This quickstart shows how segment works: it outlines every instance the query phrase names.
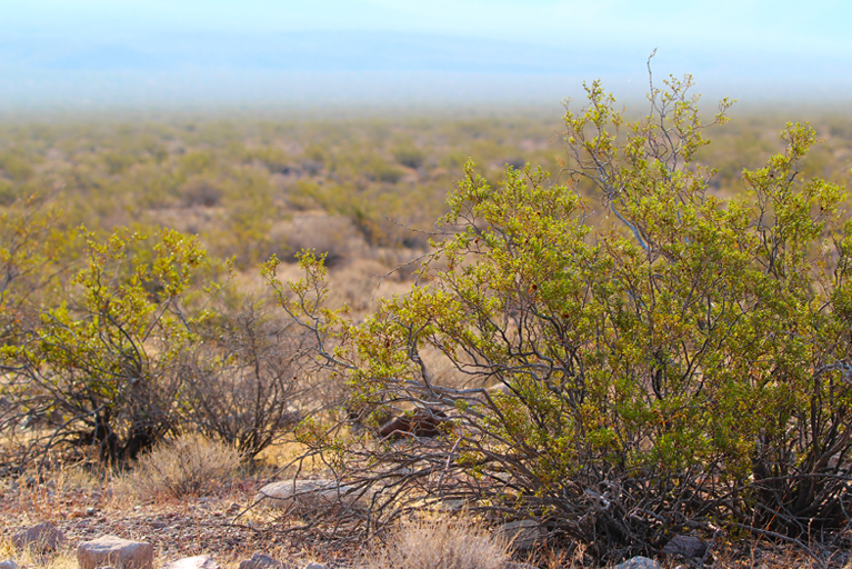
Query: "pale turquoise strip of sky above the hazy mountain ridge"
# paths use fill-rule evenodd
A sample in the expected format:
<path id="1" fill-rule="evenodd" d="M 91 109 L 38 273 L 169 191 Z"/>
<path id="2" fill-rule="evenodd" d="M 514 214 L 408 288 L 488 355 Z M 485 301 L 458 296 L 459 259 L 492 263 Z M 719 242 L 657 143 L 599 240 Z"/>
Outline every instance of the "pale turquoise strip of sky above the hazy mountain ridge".
<path id="1" fill-rule="evenodd" d="M 823 0 L 7 0 L 6 33 L 405 31 L 575 41 L 852 51 L 852 2 Z"/>

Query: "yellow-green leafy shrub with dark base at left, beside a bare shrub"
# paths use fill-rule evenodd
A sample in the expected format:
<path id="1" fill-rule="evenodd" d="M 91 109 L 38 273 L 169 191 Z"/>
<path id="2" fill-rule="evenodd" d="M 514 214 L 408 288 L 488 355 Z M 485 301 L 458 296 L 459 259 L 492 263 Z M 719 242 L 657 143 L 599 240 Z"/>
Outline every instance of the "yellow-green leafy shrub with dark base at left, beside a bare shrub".
<path id="1" fill-rule="evenodd" d="M 29 439 L 22 460 L 61 446 L 124 461 L 179 425 L 177 365 L 208 317 L 190 301 L 206 252 L 197 239 L 169 230 L 141 259 L 146 239 L 138 233 L 120 231 L 107 242 L 83 237 L 83 267 L 66 300 L 41 308 L 32 328 L 2 351 L 3 395 L 17 416 L 58 418 Z"/>

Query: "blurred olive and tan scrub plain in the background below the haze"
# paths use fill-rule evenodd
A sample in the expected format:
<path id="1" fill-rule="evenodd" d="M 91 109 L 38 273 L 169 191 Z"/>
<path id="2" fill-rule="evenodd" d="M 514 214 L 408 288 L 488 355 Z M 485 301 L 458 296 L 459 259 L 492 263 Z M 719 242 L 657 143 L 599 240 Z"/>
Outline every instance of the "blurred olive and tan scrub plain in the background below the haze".
<path id="1" fill-rule="evenodd" d="M 743 168 L 781 150 L 786 120 L 809 120 L 821 143 L 803 172 L 848 183 L 852 117 L 755 109 L 709 136 L 700 161 L 719 169 L 713 191 L 743 190 Z M 507 163 L 541 166 L 557 181 L 563 156 L 558 117 L 533 111 L 337 118 L 64 117 L 0 124 L 0 208 L 47 201 L 54 230 L 84 224 L 168 227 L 198 234 L 239 271 L 301 248 L 328 252 L 334 269 L 363 258 L 388 270 L 428 247 L 423 231 L 468 158 L 499 182 Z M 581 188 L 582 191 L 582 188 Z M 417 230 L 417 231 L 414 231 Z"/>

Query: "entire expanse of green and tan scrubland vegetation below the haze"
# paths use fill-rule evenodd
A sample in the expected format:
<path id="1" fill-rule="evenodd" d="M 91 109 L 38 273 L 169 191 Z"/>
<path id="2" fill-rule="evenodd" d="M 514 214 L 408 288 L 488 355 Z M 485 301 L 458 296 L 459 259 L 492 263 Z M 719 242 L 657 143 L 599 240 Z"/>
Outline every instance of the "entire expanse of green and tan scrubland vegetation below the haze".
<path id="1" fill-rule="evenodd" d="M 540 565 L 679 533 L 844 563 L 852 117 L 729 122 L 689 87 L 622 116 L 594 83 L 561 121 L 0 127 L 0 476 L 329 478 L 359 499 L 252 528 L 384 538 L 375 567 L 424 509 L 533 520 Z"/>

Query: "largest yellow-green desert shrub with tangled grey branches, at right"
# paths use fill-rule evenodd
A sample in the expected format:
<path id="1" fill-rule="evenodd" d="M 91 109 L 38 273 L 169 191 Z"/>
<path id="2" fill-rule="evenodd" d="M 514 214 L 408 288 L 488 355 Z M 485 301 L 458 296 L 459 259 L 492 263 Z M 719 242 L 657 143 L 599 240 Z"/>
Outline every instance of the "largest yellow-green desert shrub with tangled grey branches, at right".
<path id="1" fill-rule="evenodd" d="M 788 124 L 786 150 L 744 171 L 746 197 L 711 196 L 690 86 L 654 90 L 633 123 L 590 86 L 564 117 L 569 186 L 510 167 L 495 187 L 468 164 L 423 284 L 361 323 L 315 308 L 315 259 L 289 292 L 267 267 L 281 305 L 339 343 L 357 405 L 440 425 L 404 452 L 345 429 L 303 433 L 348 483 L 384 490 L 373 525 L 407 500 L 452 498 L 538 518 L 604 560 L 690 528 L 849 527 L 845 193 L 799 176 L 814 132 Z M 427 350 L 457 387 L 435 380 Z"/>

